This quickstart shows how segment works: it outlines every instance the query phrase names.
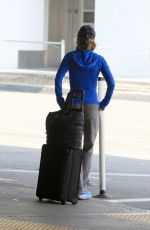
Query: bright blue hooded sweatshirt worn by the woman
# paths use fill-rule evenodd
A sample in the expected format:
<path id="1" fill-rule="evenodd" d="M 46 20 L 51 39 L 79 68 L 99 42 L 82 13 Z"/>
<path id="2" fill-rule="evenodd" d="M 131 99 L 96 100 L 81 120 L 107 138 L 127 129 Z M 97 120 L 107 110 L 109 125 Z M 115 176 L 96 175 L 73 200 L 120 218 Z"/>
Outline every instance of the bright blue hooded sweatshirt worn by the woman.
<path id="1" fill-rule="evenodd" d="M 82 89 L 84 91 L 83 104 L 97 104 L 99 108 L 105 109 L 115 87 L 113 75 L 105 59 L 91 50 L 76 50 L 65 55 L 55 78 L 55 93 L 60 108 L 64 106 L 62 80 L 67 71 L 69 71 L 70 90 Z M 97 98 L 97 82 L 100 72 L 107 82 L 106 94 L 101 102 Z"/>

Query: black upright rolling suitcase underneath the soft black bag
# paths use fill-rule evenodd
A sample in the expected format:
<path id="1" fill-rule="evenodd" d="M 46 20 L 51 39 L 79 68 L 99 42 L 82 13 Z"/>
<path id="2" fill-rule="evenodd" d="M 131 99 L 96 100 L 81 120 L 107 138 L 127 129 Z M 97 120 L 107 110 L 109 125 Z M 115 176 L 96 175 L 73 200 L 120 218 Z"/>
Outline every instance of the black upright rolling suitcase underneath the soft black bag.
<path id="1" fill-rule="evenodd" d="M 37 197 L 76 204 L 81 161 L 81 149 L 43 145 Z"/>

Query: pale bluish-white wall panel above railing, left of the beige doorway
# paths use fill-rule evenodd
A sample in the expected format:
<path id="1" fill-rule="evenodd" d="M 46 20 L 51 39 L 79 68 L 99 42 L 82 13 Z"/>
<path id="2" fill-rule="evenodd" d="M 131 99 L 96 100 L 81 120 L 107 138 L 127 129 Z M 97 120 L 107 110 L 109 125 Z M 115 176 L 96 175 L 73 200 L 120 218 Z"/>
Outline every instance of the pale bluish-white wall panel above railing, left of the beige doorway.
<path id="1" fill-rule="evenodd" d="M 19 0 L 18 5 L 18 39 L 43 41 L 44 0 Z"/>

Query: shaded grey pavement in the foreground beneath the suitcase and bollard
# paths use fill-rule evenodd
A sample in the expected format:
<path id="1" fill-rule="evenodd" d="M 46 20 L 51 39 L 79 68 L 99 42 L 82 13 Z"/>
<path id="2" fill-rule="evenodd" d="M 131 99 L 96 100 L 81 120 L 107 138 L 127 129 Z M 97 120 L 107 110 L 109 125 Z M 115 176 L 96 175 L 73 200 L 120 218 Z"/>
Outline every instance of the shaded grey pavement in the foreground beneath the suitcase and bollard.
<path id="1" fill-rule="evenodd" d="M 149 161 L 107 156 L 107 193 L 112 197 L 63 206 L 49 200 L 39 202 L 35 196 L 39 160 L 40 149 L 0 146 L 0 229 L 1 218 L 11 225 L 11 220 L 20 221 L 15 228 L 6 225 L 5 230 L 56 226 L 76 230 L 149 229 Z M 99 192 L 97 161 L 94 155 L 90 176 L 93 186 L 89 187 L 93 195 Z"/>

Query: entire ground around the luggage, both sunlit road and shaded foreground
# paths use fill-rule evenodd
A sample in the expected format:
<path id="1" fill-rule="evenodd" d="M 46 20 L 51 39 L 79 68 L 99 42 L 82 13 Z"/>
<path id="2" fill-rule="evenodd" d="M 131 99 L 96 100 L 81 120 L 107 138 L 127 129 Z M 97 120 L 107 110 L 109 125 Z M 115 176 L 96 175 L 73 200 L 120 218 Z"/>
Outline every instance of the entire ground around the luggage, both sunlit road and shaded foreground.
<path id="1" fill-rule="evenodd" d="M 22 86 L 25 93 L 10 92 L 11 85 L 12 82 L 7 86 L 3 82 L 6 88 L 0 91 L 0 217 L 4 218 L 0 218 L 0 229 L 8 229 L 9 220 L 21 221 L 15 227 L 10 221 L 12 230 L 53 226 L 77 230 L 149 229 L 149 95 L 143 93 L 145 100 L 138 101 L 133 100 L 136 95 L 120 100 L 118 94 L 107 111 L 106 182 L 112 198 L 92 198 L 75 206 L 62 206 L 46 200 L 40 203 L 35 196 L 40 147 L 45 141 L 45 116 L 49 110 L 58 109 L 53 86 L 48 88 L 50 94 L 37 94 L 27 93 L 26 84 Z M 125 94 L 121 94 L 125 99 Z M 94 153 L 90 178 L 94 186 L 90 190 L 96 195 L 98 142 Z"/>

